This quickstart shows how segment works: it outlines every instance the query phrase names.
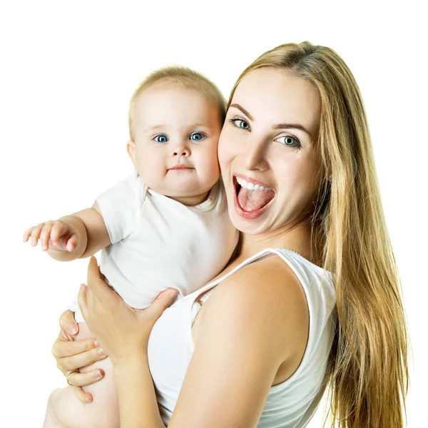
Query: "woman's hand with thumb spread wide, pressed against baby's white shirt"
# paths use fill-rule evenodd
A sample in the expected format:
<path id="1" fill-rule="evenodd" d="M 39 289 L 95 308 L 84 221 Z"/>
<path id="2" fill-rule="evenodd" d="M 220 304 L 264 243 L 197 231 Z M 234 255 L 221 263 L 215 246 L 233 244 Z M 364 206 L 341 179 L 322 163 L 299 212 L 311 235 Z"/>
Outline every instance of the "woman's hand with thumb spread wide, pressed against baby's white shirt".
<path id="1" fill-rule="evenodd" d="M 147 352 L 153 325 L 177 294 L 178 290 L 168 288 L 146 309 L 133 309 L 103 281 L 96 258 L 91 257 L 88 287 L 81 285 L 78 305 L 89 329 L 116 364 Z"/>

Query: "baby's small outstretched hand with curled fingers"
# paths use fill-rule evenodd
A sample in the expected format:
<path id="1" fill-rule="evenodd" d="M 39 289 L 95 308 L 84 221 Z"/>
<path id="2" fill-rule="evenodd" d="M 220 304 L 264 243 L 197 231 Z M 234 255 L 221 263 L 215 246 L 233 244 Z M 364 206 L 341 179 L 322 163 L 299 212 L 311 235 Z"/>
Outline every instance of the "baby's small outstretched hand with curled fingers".
<path id="1" fill-rule="evenodd" d="M 71 225 L 61 220 L 49 220 L 45 223 L 29 228 L 24 233 L 24 243 L 31 236 L 31 245 L 36 246 L 41 242 L 41 248 L 44 251 L 68 251 L 72 252 L 78 244 L 78 237 Z"/>

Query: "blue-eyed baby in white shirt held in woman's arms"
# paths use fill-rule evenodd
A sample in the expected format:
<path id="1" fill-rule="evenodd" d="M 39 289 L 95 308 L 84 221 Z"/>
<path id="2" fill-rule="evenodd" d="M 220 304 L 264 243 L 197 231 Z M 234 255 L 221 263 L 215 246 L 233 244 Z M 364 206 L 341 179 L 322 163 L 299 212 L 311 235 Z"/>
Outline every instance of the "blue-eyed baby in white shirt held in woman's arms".
<path id="1" fill-rule="evenodd" d="M 127 149 L 135 172 L 91 208 L 29 228 L 24 242 L 40 239 L 43 250 L 62 261 L 102 250 L 106 281 L 138 309 L 168 287 L 179 290 L 178 299 L 198 290 L 223 270 L 238 243 L 217 158 L 224 118 L 225 99 L 200 73 L 184 67 L 153 72 L 129 108 Z M 77 339 L 93 337 L 76 302 L 70 309 L 79 322 Z M 71 386 L 56 389 L 44 428 L 119 427 L 111 360 L 81 372 L 95 367 L 105 374 L 84 387 L 93 402 L 79 401 Z"/>

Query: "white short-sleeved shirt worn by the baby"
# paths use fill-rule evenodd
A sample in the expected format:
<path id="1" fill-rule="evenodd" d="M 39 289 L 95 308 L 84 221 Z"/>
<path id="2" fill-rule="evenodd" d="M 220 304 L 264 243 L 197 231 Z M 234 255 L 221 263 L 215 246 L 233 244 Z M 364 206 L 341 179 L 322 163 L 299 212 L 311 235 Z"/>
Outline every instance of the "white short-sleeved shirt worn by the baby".
<path id="1" fill-rule="evenodd" d="M 136 172 L 96 198 L 111 240 L 101 272 L 125 302 L 143 309 L 168 287 L 189 295 L 218 275 L 238 243 L 223 181 L 186 206 L 154 192 Z M 76 300 L 68 309 L 83 322 Z"/>

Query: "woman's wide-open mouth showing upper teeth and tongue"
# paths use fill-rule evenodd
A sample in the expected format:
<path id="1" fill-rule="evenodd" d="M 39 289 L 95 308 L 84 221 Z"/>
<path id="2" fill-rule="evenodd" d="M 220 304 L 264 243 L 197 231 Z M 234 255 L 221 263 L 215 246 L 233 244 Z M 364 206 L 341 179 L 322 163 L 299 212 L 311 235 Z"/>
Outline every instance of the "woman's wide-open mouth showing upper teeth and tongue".
<path id="1" fill-rule="evenodd" d="M 275 192 L 272 189 L 248 183 L 235 175 L 233 175 L 233 187 L 235 211 L 249 220 L 263 214 L 275 198 Z"/>

